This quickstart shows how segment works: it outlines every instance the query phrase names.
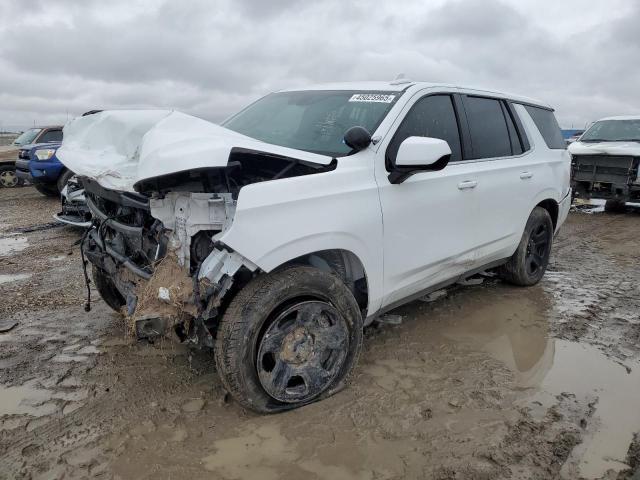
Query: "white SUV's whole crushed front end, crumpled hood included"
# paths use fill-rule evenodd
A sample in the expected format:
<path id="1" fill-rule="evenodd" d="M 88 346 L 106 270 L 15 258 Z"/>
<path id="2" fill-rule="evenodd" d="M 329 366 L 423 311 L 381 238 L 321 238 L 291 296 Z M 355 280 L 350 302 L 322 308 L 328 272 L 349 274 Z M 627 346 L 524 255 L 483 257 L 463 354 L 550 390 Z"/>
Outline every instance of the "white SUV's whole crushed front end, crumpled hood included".
<path id="1" fill-rule="evenodd" d="M 139 338 L 176 334 L 204 346 L 213 346 L 235 293 L 261 273 L 255 259 L 222 242 L 240 190 L 337 165 L 156 110 L 76 118 L 58 154 L 91 215 L 81 250 L 87 284 L 90 263 L 100 296 Z"/>

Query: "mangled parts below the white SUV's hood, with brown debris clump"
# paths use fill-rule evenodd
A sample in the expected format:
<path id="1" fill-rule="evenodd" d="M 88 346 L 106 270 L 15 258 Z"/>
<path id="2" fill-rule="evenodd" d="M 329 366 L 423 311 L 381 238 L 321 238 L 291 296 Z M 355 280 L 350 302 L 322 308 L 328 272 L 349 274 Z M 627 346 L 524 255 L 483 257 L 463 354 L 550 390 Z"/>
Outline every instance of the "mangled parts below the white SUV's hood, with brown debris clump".
<path id="1" fill-rule="evenodd" d="M 215 241 L 233 219 L 233 195 L 147 196 L 81 182 L 93 217 L 82 249 L 102 297 L 138 338 L 175 334 L 212 347 L 224 296 L 256 269 Z"/>

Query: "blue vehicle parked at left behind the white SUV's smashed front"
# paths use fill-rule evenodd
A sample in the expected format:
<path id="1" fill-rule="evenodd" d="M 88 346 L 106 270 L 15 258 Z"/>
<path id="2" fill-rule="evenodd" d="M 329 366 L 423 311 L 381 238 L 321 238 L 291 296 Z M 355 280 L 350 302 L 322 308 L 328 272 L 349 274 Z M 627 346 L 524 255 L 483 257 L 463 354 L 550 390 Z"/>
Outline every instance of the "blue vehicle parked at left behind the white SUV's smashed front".
<path id="1" fill-rule="evenodd" d="M 20 147 L 16 160 L 16 176 L 28 181 L 43 195 L 58 196 L 73 176 L 58 159 L 61 142 L 36 143 Z"/>

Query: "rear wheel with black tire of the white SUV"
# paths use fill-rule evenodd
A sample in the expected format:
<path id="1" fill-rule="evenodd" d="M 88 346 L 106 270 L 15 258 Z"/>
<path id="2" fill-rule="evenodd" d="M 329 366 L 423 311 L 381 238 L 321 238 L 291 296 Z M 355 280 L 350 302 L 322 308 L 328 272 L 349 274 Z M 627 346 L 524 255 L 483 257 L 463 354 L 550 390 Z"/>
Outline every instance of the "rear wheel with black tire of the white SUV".
<path id="1" fill-rule="evenodd" d="M 516 252 L 498 269 L 498 275 L 513 285 L 535 285 L 547 269 L 552 243 L 551 215 L 544 208 L 536 207 L 529 215 Z"/>

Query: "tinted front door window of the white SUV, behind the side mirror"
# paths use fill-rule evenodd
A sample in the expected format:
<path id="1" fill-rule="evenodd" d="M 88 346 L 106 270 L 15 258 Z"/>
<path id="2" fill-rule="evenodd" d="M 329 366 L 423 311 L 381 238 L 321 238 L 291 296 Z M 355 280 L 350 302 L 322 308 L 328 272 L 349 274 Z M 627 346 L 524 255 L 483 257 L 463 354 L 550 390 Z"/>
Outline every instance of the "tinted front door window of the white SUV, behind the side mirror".
<path id="1" fill-rule="evenodd" d="M 462 160 L 460 131 L 451 96 L 431 95 L 421 98 L 411 107 L 387 148 L 387 168 L 393 165 L 400 144 L 408 137 L 446 140 L 451 148 L 451 161 Z"/>

